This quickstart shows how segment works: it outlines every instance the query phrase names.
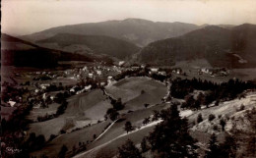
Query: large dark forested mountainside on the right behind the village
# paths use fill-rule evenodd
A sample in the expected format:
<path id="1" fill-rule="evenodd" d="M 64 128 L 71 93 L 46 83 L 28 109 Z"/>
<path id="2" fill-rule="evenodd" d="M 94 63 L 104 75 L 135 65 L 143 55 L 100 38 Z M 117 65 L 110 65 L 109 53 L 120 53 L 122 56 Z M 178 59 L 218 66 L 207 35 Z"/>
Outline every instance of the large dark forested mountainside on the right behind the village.
<path id="1" fill-rule="evenodd" d="M 206 26 L 179 37 L 153 42 L 139 56 L 144 63 L 173 65 L 178 61 L 207 59 L 214 67 L 256 67 L 256 26 L 226 29 Z"/>

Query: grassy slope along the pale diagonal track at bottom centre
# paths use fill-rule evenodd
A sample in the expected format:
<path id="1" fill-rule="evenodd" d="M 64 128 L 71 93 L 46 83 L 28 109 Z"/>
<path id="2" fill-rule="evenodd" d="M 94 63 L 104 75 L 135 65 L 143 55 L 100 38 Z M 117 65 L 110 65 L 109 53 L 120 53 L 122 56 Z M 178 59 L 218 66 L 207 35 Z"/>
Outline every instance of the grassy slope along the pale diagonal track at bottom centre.
<path id="1" fill-rule="evenodd" d="M 117 147 L 122 145 L 128 138 L 132 139 L 135 143 L 139 143 L 144 136 L 148 135 L 149 132 L 153 131 L 154 126 L 137 132 L 128 133 L 127 135 L 117 138 L 122 134 L 126 134 L 126 132 L 123 130 L 125 122 L 130 121 L 133 126 L 141 126 L 143 119 L 151 116 L 153 114 L 153 110 L 161 110 L 166 107 L 168 107 L 168 105 L 162 104 L 127 114 L 124 117 L 126 119 L 125 121 L 114 124 L 114 126 L 108 132 L 106 132 L 100 139 L 98 139 L 96 142 L 89 146 L 89 150 L 93 149 L 93 152 L 85 154 L 82 157 L 90 157 L 92 155 L 94 155 L 93 157 L 96 157 L 96 155 L 104 155 L 103 157 L 112 157 L 115 155 Z M 108 143 L 109 141 L 110 143 Z M 104 143 L 106 145 L 102 145 Z M 100 145 L 102 145 L 102 147 L 98 147 Z M 96 150 L 94 149 L 95 147 Z"/>

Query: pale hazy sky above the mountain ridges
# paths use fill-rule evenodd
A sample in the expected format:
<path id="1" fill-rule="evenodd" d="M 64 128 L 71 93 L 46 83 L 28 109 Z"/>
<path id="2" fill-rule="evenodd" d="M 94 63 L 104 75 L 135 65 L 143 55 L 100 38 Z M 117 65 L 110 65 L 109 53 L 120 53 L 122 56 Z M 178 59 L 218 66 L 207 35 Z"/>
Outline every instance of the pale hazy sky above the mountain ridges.
<path id="1" fill-rule="evenodd" d="M 2 0 L 2 31 L 140 18 L 196 25 L 256 24 L 256 0 Z"/>

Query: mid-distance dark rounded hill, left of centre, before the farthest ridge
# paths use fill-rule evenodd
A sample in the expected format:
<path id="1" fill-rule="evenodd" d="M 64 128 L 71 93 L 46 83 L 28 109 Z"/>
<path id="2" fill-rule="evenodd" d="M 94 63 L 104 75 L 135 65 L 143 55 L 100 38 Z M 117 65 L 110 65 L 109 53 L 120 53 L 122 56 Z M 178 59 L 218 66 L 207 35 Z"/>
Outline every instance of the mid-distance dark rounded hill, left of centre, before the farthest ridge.
<path id="1" fill-rule="evenodd" d="M 130 42 L 102 35 L 58 33 L 37 43 L 72 53 L 105 54 L 119 59 L 125 59 L 139 51 L 139 47 Z"/>

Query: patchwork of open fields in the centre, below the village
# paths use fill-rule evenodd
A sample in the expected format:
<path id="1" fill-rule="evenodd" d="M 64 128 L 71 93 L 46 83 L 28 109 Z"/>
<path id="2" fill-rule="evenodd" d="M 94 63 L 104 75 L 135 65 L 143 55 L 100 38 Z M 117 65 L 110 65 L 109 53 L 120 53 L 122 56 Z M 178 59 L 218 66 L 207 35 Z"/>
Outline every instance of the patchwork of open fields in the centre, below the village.
<path id="1" fill-rule="evenodd" d="M 140 127 L 143 120 L 153 114 L 153 110 L 167 107 L 166 104 L 160 104 L 161 98 L 166 94 L 166 86 L 154 79 L 121 79 L 115 84 L 106 87 L 106 91 L 115 98 L 121 98 L 125 104 L 124 110 L 120 111 L 122 121 L 114 123 L 107 132 L 104 132 L 100 138 L 93 141 L 94 134 L 98 136 L 111 123 L 109 119 L 104 121 L 104 115 L 106 110 L 111 108 L 112 105 L 100 89 L 74 95 L 67 99 L 68 107 L 63 115 L 49 121 L 33 123 L 31 125 L 30 132 L 35 132 L 36 135 L 44 134 L 46 140 L 51 134 L 59 135 L 40 151 L 33 152 L 32 155 L 39 156 L 45 153 L 46 155 L 54 156 L 63 144 L 71 150 L 74 145 L 78 146 L 79 142 L 89 142 L 87 148 L 92 149 L 123 134 L 123 127 L 126 121 L 132 122 L 135 127 Z M 146 108 L 144 104 L 152 106 Z M 160 105 L 155 106 L 156 104 Z M 49 107 L 49 109 L 51 108 Z M 127 113 L 128 111 L 130 112 Z M 32 115 L 34 114 L 32 113 Z M 100 123 L 97 121 L 100 121 Z M 91 126 L 88 126 L 89 124 Z M 82 130 L 72 132 L 76 128 L 81 128 Z M 63 129 L 67 133 L 60 134 L 60 131 Z M 141 140 L 142 137 L 139 136 L 138 140 Z M 115 148 L 114 146 L 112 147 L 113 149 Z"/>

